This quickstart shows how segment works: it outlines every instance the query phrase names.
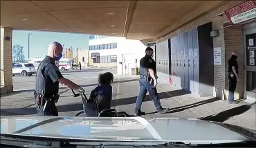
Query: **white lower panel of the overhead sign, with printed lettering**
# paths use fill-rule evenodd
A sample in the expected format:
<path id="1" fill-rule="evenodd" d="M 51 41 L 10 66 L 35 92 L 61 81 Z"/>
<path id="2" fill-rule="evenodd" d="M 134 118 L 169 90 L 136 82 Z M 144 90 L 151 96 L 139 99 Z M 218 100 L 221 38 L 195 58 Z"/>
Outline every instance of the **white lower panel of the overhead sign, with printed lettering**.
<path id="1" fill-rule="evenodd" d="M 256 8 L 253 8 L 246 12 L 242 12 L 241 14 L 237 14 L 233 17 L 230 17 L 230 21 L 232 21 L 232 23 L 241 23 L 243 21 L 248 21 L 254 18 L 256 18 Z"/>

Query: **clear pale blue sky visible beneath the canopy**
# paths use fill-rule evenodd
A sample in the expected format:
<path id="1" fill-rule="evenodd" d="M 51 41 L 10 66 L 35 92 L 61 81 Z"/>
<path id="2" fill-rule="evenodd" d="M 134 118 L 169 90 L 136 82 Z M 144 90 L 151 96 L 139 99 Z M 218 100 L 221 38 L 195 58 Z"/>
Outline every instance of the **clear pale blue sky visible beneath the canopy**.
<path id="1" fill-rule="evenodd" d="M 12 31 L 12 46 L 24 46 L 25 59 L 28 59 L 28 34 L 30 35 L 30 58 L 44 57 L 47 54 L 49 43 L 57 41 L 64 44 L 65 47 L 73 48 L 73 55 L 75 50 L 89 50 L 89 35 L 88 34 L 71 34 L 60 32 L 36 32 L 13 30 Z"/>

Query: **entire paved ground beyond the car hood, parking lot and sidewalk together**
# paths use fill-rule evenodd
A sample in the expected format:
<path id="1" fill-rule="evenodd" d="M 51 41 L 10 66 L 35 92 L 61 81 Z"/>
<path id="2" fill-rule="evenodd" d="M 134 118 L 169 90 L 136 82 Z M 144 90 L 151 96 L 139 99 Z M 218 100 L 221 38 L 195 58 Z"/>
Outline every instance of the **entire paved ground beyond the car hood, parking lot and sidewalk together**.
<path id="1" fill-rule="evenodd" d="M 86 95 L 96 87 L 98 74 L 112 72 L 114 74 L 113 96 L 111 106 L 118 112 L 126 112 L 134 116 L 134 107 L 138 95 L 138 76 L 118 76 L 116 69 L 87 69 L 62 72 L 63 76 L 86 90 Z M 1 116 L 20 115 L 35 116 L 33 92 L 35 89 L 35 75 L 14 76 L 15 91 L 1 96 Z M 171 117 L 171 118 L 200 118 L 223 123 L 231 123 L 251 129 L 255 127 L 255 103 L 240 102 L 230 105 L 219 98 L 199 97 L 189 94 L 174 85 L 159 82 L 158 94 L 163 107 L 170 109 L 167 114 L 157 114 L 154 103 L 147 95 L 143 102 L 142 111 L 147 114 L 143 117 Z M 60 116 L 74 116 L 82 110 L 80 97 L 74 98 L 71 89 L 60 85 L 60 101 L 57 103 Z"/>

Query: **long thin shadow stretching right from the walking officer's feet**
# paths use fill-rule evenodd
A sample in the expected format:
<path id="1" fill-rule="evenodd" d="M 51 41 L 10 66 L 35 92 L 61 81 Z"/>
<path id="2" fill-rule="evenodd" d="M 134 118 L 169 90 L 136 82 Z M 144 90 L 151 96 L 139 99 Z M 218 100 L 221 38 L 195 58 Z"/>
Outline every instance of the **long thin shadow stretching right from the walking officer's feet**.
<path id="1" fill-rule="evenodd" d="M 181 107 L 170 108 L 169 111 L 167 113 L 165 113 L 165 114 L 170 114 L 170 113 L 175 113 L 175 112 L 182 112 L 185 109 L 190 109 L 190 108 L 193 108 L 193 107 L 198 107 L 200 105 L 205 105 L 205 104 L 208 104 L 208 103 L 213 103 L 215 101 L 219 101 L 219 98 L 210 98 L 208 100 L 199 101 L 199 102 L 196 102 L 196 103 L 192 103 L 190 105 L 184 105 L 184 106 L 181 106 Z M 147 114 L 155 114 L 155 113 L 157 113 L 157 112 L 150 112 L 150 113 L 147 113 Z"/>

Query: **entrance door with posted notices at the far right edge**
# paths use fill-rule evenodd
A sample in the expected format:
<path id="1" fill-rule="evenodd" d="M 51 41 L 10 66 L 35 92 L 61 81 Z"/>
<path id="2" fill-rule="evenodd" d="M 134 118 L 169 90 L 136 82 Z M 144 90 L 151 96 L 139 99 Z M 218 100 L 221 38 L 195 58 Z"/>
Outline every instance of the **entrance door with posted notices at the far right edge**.
<path id="1" fill-rule="evenodd" d="M 256 101 L 256 22 L 243 25 L 244 98 Z"/>

